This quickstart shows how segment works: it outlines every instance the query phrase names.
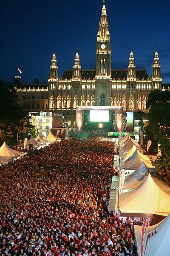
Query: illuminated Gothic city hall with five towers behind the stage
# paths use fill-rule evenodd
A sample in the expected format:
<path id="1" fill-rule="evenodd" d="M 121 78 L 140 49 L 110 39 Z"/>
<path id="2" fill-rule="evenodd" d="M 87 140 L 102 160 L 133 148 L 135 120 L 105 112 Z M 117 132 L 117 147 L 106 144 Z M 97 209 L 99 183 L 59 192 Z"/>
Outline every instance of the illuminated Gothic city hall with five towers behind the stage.
<path id="1" fill-rule="evenodd" d="M 129 54 L 127 69 L 112 69 L 110 32 L 104 1 L 97 32 L 96 69 L 82 69 L 77 52 L 73 69 L 65 70 L 59 77 L 56 54 L 53 53 L 47 84 L 40 84 L 38 79 L 35 79 L 34 84 L 22 84 L 21 77 L 15 77 L 20 105 L 31 113 L 41 133 L 50 130 L 54 111 L 61 111 L 63 122 L 74 128 L 77 106 L 122 106 L 122 128 L 126 131 L 128 116 L 135 122 L 135 112 L 146 111 L 148 94 L 154 89 L 164 90 L 158 52 L 153 52 L 151 78 L 145 69 L 136 68 L 133 52 Z M 111 129 L 115 125 L 114 116 L 112 113 L 109 117 Z M 87 113 L 84 129 L 90 127 L 88 123 Z"/>

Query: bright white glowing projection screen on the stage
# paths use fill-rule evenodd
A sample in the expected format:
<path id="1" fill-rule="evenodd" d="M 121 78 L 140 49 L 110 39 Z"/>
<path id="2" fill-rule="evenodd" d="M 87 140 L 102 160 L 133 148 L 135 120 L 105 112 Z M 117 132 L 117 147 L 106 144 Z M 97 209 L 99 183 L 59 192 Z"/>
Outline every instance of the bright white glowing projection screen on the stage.
<path id="1" fill-rule="evenodd" d="M 90 122 L 109 122 L 109 110 L 90 110 Z"/>

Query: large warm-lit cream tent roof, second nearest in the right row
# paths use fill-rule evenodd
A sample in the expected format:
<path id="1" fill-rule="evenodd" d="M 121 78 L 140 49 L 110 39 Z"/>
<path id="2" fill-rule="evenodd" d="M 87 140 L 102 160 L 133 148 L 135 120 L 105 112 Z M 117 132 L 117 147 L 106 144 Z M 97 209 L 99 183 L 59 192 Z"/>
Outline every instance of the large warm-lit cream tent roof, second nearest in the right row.
<path id="1" fill-rule="evenodd" d="M 127 213 L 155 213 L 167 216 L 170 213 L 170 191 L 161 190 L 150 173 L 135 189 L 123 189 L 119 209 Z"/>

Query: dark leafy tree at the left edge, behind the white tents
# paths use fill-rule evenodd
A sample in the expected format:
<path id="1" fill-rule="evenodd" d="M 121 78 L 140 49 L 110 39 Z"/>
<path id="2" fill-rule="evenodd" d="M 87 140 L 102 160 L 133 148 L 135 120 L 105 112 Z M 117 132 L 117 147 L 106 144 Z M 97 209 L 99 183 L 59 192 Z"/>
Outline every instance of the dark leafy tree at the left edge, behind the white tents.
<path id="1" fill-rule="evenodd" d="M 13 144 L 23 135 L 23 131 L 34 128 L 31 117 L 17 102 L 14 85 L 0 80 L 0 141 Z"/>

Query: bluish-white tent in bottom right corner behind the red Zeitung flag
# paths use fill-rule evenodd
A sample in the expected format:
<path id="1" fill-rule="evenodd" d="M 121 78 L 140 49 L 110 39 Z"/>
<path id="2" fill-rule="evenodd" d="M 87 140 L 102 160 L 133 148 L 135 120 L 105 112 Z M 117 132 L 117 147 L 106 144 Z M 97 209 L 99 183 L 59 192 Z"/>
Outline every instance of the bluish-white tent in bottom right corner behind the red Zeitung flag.
<path id="1" fill-rule="evenodd" d="M 144 256 L 170 255 L 170 214 L 156 225 L 149 226 L 144 238 Z M 138 255 L 141 256 L 142 226 L 134 226 Z"/>

